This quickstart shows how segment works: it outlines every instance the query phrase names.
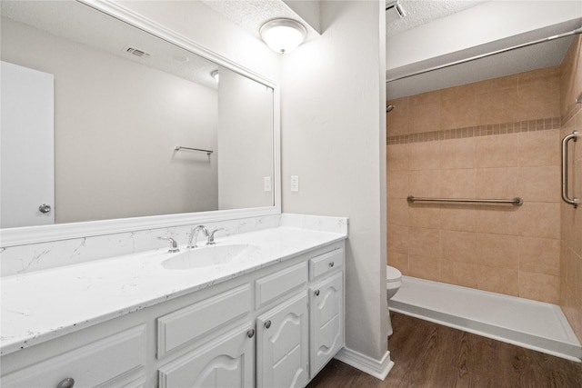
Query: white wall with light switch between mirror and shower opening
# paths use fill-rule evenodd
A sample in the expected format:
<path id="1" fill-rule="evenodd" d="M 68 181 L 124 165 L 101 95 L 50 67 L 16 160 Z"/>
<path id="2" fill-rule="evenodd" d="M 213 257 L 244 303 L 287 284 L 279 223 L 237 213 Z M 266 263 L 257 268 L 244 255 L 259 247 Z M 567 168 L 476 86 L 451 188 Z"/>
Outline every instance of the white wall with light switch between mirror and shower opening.
<path id="1" fill-rule="evenodd" d="M 379 361 L 387 331 L 385 12 L 383 2 L 320 6 L 321 37 L 283 57 L 283 210 L 349 217 L 346 346 Z"/>

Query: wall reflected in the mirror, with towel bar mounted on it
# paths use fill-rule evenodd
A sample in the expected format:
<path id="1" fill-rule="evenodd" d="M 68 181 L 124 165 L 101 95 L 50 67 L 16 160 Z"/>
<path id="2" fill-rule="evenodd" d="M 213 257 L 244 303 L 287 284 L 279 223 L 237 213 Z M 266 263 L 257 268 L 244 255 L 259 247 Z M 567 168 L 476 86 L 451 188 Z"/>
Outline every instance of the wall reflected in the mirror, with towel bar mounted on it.
<path id="1" fill-rule="evenodd" d="M 2 58 L 55 75 L 55 222 L 217 209 L 217 93 L 2 19 Z"/>

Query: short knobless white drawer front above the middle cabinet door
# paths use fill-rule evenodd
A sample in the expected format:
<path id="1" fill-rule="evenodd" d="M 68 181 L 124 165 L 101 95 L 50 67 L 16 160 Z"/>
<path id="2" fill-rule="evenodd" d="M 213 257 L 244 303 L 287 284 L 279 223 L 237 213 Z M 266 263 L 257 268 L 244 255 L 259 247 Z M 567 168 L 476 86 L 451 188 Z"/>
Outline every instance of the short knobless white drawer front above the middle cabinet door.
<path id="1" fill-rule="evenodd" d="M 306 262 L 290 266 L 275 274 L 256 280 L 256 308 L 275 301 L 290 291 L 307 283 Z"/>

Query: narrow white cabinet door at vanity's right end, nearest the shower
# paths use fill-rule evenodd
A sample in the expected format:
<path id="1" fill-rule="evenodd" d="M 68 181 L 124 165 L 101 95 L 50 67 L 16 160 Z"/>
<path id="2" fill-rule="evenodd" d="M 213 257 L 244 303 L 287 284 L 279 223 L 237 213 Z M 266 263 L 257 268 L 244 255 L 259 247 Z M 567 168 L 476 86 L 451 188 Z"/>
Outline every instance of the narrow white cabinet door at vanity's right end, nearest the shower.
<path id="1" fill-rule="evenodd" d="M 311 378 L 344 346 L 344 276 L 309 287 Z"/>

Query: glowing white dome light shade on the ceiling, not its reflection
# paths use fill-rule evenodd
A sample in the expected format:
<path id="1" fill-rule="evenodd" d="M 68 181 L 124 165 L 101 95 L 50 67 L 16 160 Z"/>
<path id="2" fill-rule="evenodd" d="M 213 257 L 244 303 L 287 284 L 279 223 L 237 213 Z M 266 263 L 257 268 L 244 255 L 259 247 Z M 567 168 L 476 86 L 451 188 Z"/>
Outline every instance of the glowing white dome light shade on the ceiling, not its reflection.
<path id="1" fill-rule="evenodd" d="M 273 19 L 260 30 L 261 37 L 271 50 L 285 54 L 296 49 L 306 39 L 307 30 L 292 19 Z"/>

